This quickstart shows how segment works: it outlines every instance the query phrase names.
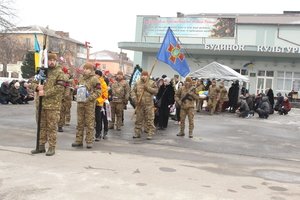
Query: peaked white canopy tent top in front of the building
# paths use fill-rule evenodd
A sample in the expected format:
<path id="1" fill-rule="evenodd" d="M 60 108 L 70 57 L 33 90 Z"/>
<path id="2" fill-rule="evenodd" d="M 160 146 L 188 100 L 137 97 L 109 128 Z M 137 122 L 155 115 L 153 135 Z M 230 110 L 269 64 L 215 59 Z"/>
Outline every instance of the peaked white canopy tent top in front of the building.
<path id="1" fill-rule="evenodd" d="M 203 79 L 222 79 L 227 81 L 238 80 L 249 82 L 247 77 L 237 73 L 232 68 L 217 62 L 212 62 L 190 73 L 189 76 Z"/>

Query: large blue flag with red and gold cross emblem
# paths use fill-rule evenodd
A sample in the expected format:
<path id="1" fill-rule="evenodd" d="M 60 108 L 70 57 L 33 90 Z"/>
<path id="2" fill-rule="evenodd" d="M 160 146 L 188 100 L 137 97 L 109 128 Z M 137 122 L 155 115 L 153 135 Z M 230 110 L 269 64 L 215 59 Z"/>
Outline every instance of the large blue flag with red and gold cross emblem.
<path id="1" fill-rule="evenodd" d="M 190 67 L 170 27 L 168 28 L 156 58 L 170 65 L 183 77 L 186 77 L 190 73 Z"/>

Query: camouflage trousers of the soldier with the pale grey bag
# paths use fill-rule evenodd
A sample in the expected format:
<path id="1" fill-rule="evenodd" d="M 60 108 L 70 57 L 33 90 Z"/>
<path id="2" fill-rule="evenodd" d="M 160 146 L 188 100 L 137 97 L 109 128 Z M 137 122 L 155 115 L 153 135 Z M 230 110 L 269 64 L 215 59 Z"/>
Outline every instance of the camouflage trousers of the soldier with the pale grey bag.
<path id="1" fill-rule="evenodd" d="M 84 128 L 86 128 L 85 141 L 92 144 L 94 141 L 95 128 L 95 103 L 77 103 L 77 131 L 76 142 L 82 143 L 84 137 Z"/>

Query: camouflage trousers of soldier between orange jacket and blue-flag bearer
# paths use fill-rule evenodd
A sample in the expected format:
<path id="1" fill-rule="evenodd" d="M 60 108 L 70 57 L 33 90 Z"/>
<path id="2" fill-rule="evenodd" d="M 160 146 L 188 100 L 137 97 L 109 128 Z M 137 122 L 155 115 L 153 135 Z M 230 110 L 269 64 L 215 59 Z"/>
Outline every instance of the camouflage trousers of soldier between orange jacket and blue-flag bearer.
<path id="1" fill-rule="evenodd" d="M 123 102 L 110 102 L 111 106 L 111 121 L 109 122 L 109 127 L 121 128 L 124 104 Z"/>

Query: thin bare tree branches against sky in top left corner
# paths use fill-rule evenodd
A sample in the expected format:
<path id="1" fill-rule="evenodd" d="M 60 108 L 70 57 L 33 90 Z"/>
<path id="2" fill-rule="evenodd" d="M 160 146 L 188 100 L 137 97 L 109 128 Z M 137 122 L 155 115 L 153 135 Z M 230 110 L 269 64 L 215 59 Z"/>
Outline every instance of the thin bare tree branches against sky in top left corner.
<path id="1" fill-rule="evenodd" d="M 15 15 L 15 9 L 12 7 L 13 4 L 13 0 L 0 0 L 0 30 L 14 27 L 12 21 L 17 16 Z"/>

